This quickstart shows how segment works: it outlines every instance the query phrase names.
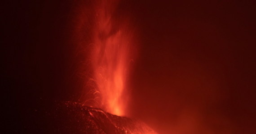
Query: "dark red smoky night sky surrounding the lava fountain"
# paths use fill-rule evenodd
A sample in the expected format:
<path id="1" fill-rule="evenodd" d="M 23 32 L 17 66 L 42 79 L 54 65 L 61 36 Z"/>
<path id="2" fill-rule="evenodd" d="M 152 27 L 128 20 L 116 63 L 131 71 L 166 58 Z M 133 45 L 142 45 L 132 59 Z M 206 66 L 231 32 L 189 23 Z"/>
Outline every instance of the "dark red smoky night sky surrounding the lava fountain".
<path id="1" fill-rule="evenodd" d="M 9 132 L 40 132 L 47 121 L 35 110 L 79 98 L 82 59 L 70 39 L 79 1 L 1 4 L 1 101 Z M 140 42 L 130 116 L 160 134 L 252 134 L 256 3 L 170 1 L 120 3 Z"/>

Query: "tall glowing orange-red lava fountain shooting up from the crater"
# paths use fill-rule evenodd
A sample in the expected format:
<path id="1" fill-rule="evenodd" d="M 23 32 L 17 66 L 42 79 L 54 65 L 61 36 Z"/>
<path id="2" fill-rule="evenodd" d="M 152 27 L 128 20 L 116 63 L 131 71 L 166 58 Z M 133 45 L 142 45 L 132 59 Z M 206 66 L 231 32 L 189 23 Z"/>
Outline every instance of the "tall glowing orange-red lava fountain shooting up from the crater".
<path id="1" fill-rule="evenodd" d="M 101 107 L 120 116 L 125 115 L 128 103 L 132 33 L 128 20 L 114 15 L 117 4 L 116 0 L 101 0 L 96 6 L 91 59 Z"/>

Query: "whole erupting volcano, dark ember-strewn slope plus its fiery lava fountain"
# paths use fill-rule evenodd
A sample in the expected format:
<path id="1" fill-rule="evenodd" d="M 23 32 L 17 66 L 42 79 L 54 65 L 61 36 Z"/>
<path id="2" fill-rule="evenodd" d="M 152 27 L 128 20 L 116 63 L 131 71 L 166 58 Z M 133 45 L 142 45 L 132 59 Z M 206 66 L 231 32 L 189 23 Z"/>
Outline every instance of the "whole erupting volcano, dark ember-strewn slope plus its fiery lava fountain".
<path id="1" fill-rule="evenodd" d="M 93 3 L 93 8 L 90 8 L 93 12 L 88 15 L 92 17 L 87 19 L 91 22 L 89 29 L 84 28 L 88 26 L 88 21 L 83 21 L 84 16 L 79 17 L 82 21 L 79 21 L 76 34 L 84 37 L 84 33 L 90 33 L 89 38 L 80 39 L 89 42 L 87 58 L 84 59 L 89 61 L 91 68 L 88 73 L 90 86 L 84 89 L 89 97 L 83 98 L 85 105 L 73 102 L 57 105 L 55 117 L 68 118 L 67 124 L 57 126 L 58 130 L 79 134 L 155 134 L 139 120 L 120 117 L 127 116 L 130 91 L 127 80 L 136 43 L 128 17 L 116 15 L 118 6 L 118 0 Z M 94 102 L 90 103 L 91 100 Z"/>

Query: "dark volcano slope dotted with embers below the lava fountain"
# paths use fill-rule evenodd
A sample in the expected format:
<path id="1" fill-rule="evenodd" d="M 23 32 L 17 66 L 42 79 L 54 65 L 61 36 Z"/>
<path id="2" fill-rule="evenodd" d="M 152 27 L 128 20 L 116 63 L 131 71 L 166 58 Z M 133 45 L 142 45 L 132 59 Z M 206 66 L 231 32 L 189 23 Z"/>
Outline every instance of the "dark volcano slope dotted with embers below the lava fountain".
<path id="1" fill-rule="evenodd" d="M 58 103 L 53 115 L 57 134 L 156 134 L 142 121 L 76 102 Z"/>

